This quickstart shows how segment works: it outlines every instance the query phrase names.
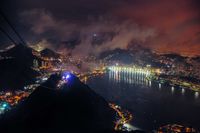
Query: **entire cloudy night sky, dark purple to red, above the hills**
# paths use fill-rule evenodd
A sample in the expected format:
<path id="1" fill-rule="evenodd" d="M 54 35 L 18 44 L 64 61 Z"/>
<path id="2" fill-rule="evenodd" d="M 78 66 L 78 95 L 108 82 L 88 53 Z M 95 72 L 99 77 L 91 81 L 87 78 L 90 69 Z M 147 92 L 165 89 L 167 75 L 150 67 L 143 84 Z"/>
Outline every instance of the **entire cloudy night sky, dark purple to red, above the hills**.
<path id="1" fill-rule="evenodd" d="M 199 0 L 1 0 L 0 6 L 28 45 L 87 55 L 139 44 L 200 55 Z M 10 44 L 0 33 L 0 48 Z"/>

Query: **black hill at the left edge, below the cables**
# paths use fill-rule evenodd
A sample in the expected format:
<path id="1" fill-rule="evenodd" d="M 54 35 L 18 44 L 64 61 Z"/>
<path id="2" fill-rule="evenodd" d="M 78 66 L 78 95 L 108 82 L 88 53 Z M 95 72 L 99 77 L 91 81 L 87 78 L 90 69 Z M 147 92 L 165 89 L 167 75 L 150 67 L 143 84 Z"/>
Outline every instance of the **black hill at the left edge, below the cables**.
<path id="1" fill-rule="evenodd" d="M 31 67 L 33 60 L 39 59 L 32 51 L 33 49 L 19 44 L 0 53 L 0 56 L 5 58 L 0 60 L 0 89 L 21 89 L 34 81 L 34 77 L 39 73 Z"/>

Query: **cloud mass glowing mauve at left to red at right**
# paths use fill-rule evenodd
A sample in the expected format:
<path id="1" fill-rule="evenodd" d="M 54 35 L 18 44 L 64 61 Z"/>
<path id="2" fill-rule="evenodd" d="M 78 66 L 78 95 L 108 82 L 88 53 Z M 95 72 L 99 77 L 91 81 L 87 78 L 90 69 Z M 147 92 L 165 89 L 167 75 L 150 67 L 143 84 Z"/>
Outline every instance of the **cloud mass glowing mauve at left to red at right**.
<path id="1" fill-rule="evenodd" d="M 200 55 L 200 11 L 195 2 L 120 1 L 120 6 L 96 17 L 88 14 L 80 21 L 37 8 L 24 10 L 20 17 L 39 40 L 74 56 L 126 49 L 132 42 L 159 53 Z"/>

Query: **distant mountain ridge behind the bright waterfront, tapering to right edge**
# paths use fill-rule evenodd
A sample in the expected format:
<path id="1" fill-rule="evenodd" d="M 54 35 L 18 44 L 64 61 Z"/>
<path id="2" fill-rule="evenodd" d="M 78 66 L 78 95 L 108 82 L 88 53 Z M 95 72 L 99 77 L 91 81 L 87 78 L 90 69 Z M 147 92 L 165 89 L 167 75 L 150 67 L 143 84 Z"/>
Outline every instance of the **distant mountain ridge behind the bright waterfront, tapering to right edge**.
<path id="1" fill-rule="evenodd" d="M 179 54 L 157 54 L 148 48 L 140 45 L 129 45 L 127 49 L 116 48 L 113 50 L 106 50 L 100 53 L 98 59 L 108 62 L 120 62 L 124 64 L 136 64 L 146 66 L 150 64 L 153 67 L 163 67 L 162 60 L 171 60 L 172 62 L 180 62 L 188 64 L 188 60 L 200 62 L 200 57 L 184 57 Z"/>

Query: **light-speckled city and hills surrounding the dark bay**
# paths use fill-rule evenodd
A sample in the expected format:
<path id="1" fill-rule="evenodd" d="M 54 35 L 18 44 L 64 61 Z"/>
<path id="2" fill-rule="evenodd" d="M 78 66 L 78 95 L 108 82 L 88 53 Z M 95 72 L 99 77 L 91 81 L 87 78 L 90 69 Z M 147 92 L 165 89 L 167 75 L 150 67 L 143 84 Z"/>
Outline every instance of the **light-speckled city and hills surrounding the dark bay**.
<path id="1" fill-rule="evenodd" d="M 28 62 L 22 59 L 25 54 L 29 55 L 27 56 Z M 124 57 L 129 59 L 128 62 L 127 60 L 124 62 Z M 149 58 L 148 61 L 146 57 Z M 18 65 L 24 65 L 24 67 L 30 68 L 30 71 L 25 75 L 31 75 L 33 72 L 36 74 L 31 76 L 31 79 L 25 79 L 29 81 L 20 83 L 20 86 L 1 85 L 4 88 L 1 88 L 0 92 L 0 114 L 3 115 L 26 99 L 38 86 L 47 81 L 51 74 L 63 72 L 73 73 L 83 83 L 87 83 L 90 78 L 103 75 L 106 71 L 136 73 L 144 75 L 149 85 L 152 81 L 158 82 L 159 87 L 167 83 L 172 89 L 178 86 L 178 89 L 182 89 L 182 91 L 185 89 L 195 91 L 195 96 L 198 97 L 200 93 L 199 59 L 199 57 L 190 58 L 176 54 L 159 55 L 137 46 L 130 51 L 116 49 L 103 53 L 101 57 L 88 56 L 78 59 L 56 53 L 50 49 L 38 51 L 38 49 L 24 45 L 12 46 L 0 53 L 0 62 L 8 62 L 8 71 L 15 69 Z M 9 62 L 14 60 L 17 60 L 17 65 L 10 65 Z M 17 78 L 21 80 L 21 77 Z M 58 89 L 62 87 L 67 78 L 69 77 L 63 77 L 57 84 Z M 133 127 L 129 122 L 134 121 L 134 114 L 118 105 L 111 103 L 109 105 L 116 111 L 114 129 L 131 131 Z M 166 130 L 174 132 L 195 131 L 193 128 L 175 124 L 160 127 L 158 132 Z"/>

